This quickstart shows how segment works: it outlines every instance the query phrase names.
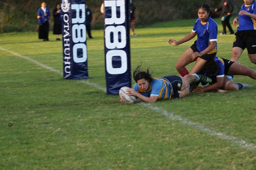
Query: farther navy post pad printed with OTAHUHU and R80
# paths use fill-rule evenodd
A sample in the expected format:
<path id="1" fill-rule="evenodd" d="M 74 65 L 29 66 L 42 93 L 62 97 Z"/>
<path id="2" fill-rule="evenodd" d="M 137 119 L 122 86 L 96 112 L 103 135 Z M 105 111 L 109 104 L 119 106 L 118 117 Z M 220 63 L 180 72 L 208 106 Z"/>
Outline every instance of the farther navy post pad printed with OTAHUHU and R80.
<path id="1" fill-rule="evenodd" d="M 63 77 L 87 79 L 85 0 L 61 0 Z"/>

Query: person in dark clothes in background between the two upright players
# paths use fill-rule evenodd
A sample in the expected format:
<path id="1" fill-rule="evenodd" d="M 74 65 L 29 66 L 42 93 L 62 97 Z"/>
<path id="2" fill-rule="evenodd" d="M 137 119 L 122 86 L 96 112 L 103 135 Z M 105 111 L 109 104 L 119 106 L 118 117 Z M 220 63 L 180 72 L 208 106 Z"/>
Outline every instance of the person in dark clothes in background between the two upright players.
<path id="1" fill-rule="evenodd" d="M 230 17 L 232 16 L 233 12 L 233 4 L 231 3 L 231 0 L 222 0 L 221 5 L 215 9 L 215 12 L 221 11 L 221 24 L 223 27 L 223 31 L 221 35 L 226 35 L 226 26 L 230 31 L 230 34 L 234 34 L 234 31 L 229 23 Z"/>

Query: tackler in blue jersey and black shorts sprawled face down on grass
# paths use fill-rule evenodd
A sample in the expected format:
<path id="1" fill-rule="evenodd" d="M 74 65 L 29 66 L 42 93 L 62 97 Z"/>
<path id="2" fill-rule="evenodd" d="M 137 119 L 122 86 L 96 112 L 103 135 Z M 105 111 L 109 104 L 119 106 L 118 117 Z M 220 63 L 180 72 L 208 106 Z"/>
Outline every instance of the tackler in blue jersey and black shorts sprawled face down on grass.
<path id="1" fill-rule="evenodd" d="M 214 61 L 207 62 L 204 71 L 200 74 L 211 78 L 212 82 L 210 84 L 202 83 L 204 88 L 198 87 L 193 90 L 194 92 L 212 91 L 216 88 L 223 90 L 239 90 L 241 88 L 253 87 L 249 84 L 231 82 L 226 75 L 243 75 L 256 79 L 256 70 L 221 57 L 215 57 Z"/>

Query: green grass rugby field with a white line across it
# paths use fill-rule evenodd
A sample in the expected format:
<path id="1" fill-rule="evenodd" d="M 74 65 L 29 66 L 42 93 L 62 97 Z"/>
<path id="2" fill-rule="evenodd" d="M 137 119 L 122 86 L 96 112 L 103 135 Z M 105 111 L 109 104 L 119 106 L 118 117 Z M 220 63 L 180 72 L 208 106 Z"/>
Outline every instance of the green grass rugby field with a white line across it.
<path id="1" fill-rule="evenodd" d="M 136 29 L 132 70 L 143 61 L 154 77 L 177 75 L 175 63 L 193 40 L 167 41 L 188 34 L 193 23 Z M 0 34 L 1 170 L 256 170 L 255 80 L 236 76 L 254 87 L 226 94 L 122 105 L 104 91 L 103 31 L 92 34 L 90 78 L 82 81 L 63 79 L 62 45 L 52 32 L 49 42 L 35 32 Z M 231 58 L 233 39 L 218 36 L 219 57 Z M 239 62 L 256 69 L 247 51 Z"/>

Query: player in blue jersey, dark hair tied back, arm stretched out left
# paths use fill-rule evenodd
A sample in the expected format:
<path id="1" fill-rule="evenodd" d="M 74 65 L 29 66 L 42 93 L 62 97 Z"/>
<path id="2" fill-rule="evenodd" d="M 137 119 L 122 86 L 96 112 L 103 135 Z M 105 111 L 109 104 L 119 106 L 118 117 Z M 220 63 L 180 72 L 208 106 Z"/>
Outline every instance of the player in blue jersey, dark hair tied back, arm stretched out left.
<path id="1" fill-rule="evenodd" d="M 216 13 L 212 13 L 207 4 L 201 4 L 198 7 L 198 18 L 195 21 L 192 32 L 179 41 L 169 40 L 169 44 L 180 45 L 193 39 L 196 35 L 198 36 L 195 43 L 181 55 L 175 65 L 181 76 L 198 73 L 203 69 L 207 61 L 213 60 L 216 56 L 218 25 L 212 19 L 213 17 L 217 17 Z M 194 67 L 188 72 L 185 66 L 195 61 Z"/>

